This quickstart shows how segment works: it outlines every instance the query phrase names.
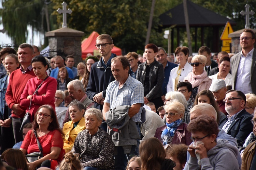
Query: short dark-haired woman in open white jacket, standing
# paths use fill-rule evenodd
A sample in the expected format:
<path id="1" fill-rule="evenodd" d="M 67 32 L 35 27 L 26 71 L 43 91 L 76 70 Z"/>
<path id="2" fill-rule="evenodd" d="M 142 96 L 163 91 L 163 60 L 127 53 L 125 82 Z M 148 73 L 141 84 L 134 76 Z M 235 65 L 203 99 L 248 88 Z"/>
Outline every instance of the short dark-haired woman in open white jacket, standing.
<path id="1" fill-rule="evenodd" d="M 169 82 L 166 87 L 167 92 L 176 91 L 177 84 L 183 82 L 187 74 L 193 70 L 193 67 L 187 61 L 189 56 L 189 49 L 187 47 L 177 47 L 174 54 L 180 64 L 179 67 L 171 70 Z"/>

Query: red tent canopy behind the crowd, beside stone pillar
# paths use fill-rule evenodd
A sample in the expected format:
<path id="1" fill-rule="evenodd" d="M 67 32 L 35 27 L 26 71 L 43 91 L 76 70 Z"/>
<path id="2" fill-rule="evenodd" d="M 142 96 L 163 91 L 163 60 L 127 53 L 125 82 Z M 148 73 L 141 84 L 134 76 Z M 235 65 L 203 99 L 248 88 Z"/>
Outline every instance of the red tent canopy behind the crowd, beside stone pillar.
<path id="1" fill-rule="evenodd" d="M 93 55 L 100 54 L 98 49 L 95 47 L 96 44 L 96 38 L 99 36 L 99 33 L 96 31 L 92 32 L 91 35 L 88 38 L 85 38 L 82 41 L 82 58 L 85 59 L 86 55 L 88 53 L 91 53 Z M 122 50 L 116 46 L 111 50 L 112 53 L 115 53 L 116 55 L 122 55 Z"/>

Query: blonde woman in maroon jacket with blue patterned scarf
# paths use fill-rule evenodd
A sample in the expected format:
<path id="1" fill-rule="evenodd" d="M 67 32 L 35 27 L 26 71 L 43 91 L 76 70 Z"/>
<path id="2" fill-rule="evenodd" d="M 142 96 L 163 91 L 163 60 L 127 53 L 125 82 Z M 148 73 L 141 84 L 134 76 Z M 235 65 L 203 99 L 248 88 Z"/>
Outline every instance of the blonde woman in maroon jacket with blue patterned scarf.
<path id="1" fill-rule="evenodd" d="M 187 123 L 183 123 L 182 119 L 185 113 L 185 107 L 177 100 L 167 102 L 165 106 L 166 125 L 156 129 L 155 137 L 158 138 L 163 145 L 167 144 L 185 144 L 190 145 L 191 133 L 187 131 Z"/>

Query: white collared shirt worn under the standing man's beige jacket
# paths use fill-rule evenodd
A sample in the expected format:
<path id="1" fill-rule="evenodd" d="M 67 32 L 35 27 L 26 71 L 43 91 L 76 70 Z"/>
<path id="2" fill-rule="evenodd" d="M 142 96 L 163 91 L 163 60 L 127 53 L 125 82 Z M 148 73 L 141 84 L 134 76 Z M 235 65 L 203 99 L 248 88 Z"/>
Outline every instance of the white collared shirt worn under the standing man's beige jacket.
<path id="1" fill-rule="evenodd" d="M 246 56 L 244 56 L 241 51 L 240 62 L 237 69 L 237 83 L 234 89 L 240 90 L 244 94 L 253 92 L 251 86 L 251 67 L 253 60 L 253 50 L 254 49 L 252 49 Z"/>

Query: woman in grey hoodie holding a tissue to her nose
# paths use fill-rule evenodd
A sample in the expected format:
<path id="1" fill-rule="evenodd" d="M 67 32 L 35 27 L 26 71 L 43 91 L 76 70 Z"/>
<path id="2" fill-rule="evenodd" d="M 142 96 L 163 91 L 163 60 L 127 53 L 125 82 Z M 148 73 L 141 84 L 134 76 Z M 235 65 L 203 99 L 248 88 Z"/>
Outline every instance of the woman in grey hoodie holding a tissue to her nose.
<path id="1" fill-rule="evenodd" d="M 241 169 L 237 147 L 227 140 L 216 139 L 219 129 L 214 118 L 201 115 L 191 120 L 187 129 L 193 143 L 188 147 L 190 156 L 185 169 Z"/>

